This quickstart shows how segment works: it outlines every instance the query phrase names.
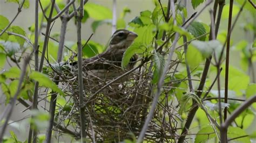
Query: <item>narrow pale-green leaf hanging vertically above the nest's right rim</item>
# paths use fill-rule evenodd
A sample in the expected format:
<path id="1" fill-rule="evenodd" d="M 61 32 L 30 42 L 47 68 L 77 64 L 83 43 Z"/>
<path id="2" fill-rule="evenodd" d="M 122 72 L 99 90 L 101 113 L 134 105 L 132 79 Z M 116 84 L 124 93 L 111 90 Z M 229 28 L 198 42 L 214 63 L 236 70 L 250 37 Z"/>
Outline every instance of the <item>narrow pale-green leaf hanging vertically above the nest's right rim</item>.
<path id="1" fill-rule="evenodd" d="M 153 56 L 153 62 L 154 62 L 154 74 L 153 74 L 153 80 L 152 83 L 156 84 L 159 80 L 159 75 L 163 74 L 164 70 L 164 65 L 165 65 L 165 60 L 164 56 L 161 55 L 160 53 L 156 52 L 154 50 L 154 56 Z"/>

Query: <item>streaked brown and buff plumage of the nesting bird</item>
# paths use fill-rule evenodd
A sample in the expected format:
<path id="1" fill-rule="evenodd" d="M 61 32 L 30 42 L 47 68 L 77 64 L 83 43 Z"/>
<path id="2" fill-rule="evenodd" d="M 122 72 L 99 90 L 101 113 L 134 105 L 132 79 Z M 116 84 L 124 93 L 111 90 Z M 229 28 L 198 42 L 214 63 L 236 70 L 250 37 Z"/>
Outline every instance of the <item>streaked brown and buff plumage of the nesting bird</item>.
<path id="1" fill-rule="evenodd" d="M 113 33 L 105 52 L 92 58 L 83 59 L 83 71 L 102 79 L 115 78 L 123 74 L 121 68 L 123 54 L 137 36 L 136 33 L 128 30 L 117 30 Z M 136 60 L 137 56 L 134 55 L 126 69 L 131 69 Z M 76 67 L 77 62 L 73 62 L 71 65 Z"/>

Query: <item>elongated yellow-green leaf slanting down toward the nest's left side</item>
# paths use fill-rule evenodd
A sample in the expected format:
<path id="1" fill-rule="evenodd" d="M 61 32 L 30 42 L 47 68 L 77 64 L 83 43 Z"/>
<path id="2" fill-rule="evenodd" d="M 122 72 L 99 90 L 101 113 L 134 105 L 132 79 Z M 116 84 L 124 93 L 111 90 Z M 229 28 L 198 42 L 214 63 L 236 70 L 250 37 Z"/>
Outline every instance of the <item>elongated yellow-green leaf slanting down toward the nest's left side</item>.
<path id="1" fill-rule="evenodd" d="M 39 85 L 42 87 L 50 88 L 53 91 L 58 92 L 61 95 L 64 95 L 64 92 L 58 88 L 58 86 L 45 74 L 39 73 L 38 71 L 32 71 L 29 75 L 32 80 L 39 82 Z"/>

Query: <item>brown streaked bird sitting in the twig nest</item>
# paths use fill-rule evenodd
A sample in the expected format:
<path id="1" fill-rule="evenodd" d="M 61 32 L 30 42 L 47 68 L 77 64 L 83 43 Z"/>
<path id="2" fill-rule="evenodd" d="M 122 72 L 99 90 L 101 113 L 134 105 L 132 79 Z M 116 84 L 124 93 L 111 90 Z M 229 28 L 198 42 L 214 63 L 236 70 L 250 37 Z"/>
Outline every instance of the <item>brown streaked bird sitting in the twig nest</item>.
<path id="1" fill-rule="evenodd" d="M 83 79 L 84 83 L 89 87 L 96 88 L 106 81 L 113 80 L 118 76 L 130 70 L 136 64 L 137 55 L 133 55 L 129 65 L 123 69 L 121 67 L 123 55 L 129 46 L 133 43 L 138 35 L 129 30 L 117 30 L 113 33 L 106 51 L 92 58 L 82 59 Z M 73 73 L 78 73 L 77 61 L 70 63 Z M 129 80 L 129 76 L 120 78 L 117 82 L 125 82 Z M 97 84 L 97 85 L 93 85 Z"/>

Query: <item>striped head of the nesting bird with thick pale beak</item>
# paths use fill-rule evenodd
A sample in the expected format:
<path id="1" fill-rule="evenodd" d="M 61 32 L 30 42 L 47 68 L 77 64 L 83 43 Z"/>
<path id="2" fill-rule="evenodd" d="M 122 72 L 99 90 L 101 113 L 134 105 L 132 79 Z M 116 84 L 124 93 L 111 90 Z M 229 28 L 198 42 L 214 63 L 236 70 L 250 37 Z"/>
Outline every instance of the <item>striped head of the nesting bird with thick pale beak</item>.
<path id="1" fill-rule="evenodd" d="M 129 30 L 117 30 L 111 37 L 110 48 L 126 49 L 137 37 L 136 33 Z"/>

